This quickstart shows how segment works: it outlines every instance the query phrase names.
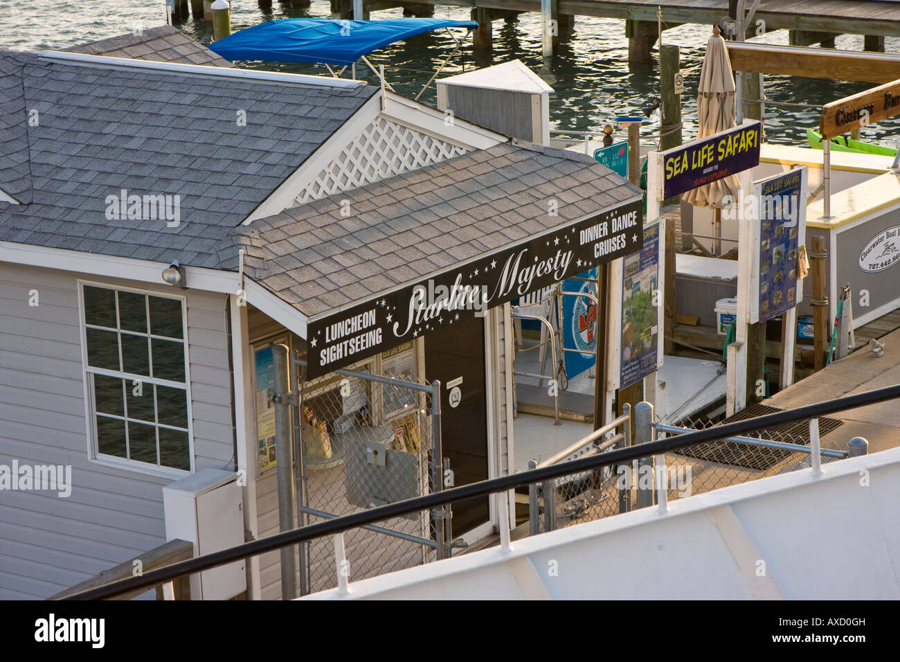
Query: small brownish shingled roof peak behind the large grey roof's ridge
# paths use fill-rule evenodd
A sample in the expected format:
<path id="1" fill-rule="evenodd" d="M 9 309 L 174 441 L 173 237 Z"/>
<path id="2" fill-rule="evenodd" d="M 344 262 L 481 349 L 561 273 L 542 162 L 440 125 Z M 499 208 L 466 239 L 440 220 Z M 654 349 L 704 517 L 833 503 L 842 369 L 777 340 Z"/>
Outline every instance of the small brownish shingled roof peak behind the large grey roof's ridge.
<path id="1" fill-rule="evenodd" d="M 193 41 L 173 25 L 160 25 L 143 30 L 140 34 L 131 32 L 100 41 L 78 44 L 68 49 L 70 53 L 87 55 L 107 55 L 112 58 L 148 59 L 157 62 L 181 62 L 182 64 L 230 67 L 227 59 Z"/>

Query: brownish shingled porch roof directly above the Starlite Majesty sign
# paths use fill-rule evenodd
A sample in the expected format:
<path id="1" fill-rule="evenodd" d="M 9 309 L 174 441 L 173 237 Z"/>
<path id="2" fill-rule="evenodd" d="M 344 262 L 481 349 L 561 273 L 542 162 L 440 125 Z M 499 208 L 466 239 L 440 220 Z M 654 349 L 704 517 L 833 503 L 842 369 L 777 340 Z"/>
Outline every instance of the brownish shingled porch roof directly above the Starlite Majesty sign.
<path id="1" fill-rule="evenodd" d="M 242 226 L 221 266 L 245 249 L 245 273 L 313 317 L 638 195 L 590 157 L 500 143 Z"/>

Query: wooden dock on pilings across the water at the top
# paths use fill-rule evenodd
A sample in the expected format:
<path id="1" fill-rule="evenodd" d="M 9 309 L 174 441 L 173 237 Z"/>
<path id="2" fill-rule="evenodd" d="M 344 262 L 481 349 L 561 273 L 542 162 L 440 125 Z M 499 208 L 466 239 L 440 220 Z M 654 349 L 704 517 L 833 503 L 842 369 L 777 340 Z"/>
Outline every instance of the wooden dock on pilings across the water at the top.
<path id="1" fill-rule="evenodd" d="M 353 15 L 353 0 L 331 0 L 332 14 L 340 18 Z M 752 3 L 748 2 L 747 5 Z M 523 12 L 541 13 L 541 0 L 365 0 L 370 11 L 403 7 L 404 13 L 429 15 L 435 5 L 472 7 L 478 21 L 476 47 L 490 47 L 491 22 Z M 682 23 L 714 25 L 728 15 L 728 0 L 551 0 L 550 12 L 557 21 L 560 37 L 565 37 L 575 16 L 615 18 L 626 22 L 629 58 L 649 59 L 658 38 L 657 7 L 662 10 L 663 30 Z M 757 23 L 765 32 L 789 30 L 790 43 L 806 46 L 821 43 L 833 47 L 839 34 L 866 35 L 865 50 L 884 50 L 885 37 L 900 37 L 900 2 L 889 0 L 761 0 L 752 17 L 751 34 Z"/>

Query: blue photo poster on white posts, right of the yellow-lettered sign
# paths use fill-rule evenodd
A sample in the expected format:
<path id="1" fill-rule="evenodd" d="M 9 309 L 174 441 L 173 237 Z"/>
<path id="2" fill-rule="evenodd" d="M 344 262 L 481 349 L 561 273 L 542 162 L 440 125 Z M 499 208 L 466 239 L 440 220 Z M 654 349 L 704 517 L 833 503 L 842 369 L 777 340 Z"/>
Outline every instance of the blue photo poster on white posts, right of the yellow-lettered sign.
<path id="1" fill-rule="evenodd" d="M 753 322 L 765 322 L 797 305 L 797 249 L 802 229 L 801 172 L 790 170 L 756 185 L 760 237 L 759 291 Z M 806 204 L 803 205 L 806 207 Z"/>

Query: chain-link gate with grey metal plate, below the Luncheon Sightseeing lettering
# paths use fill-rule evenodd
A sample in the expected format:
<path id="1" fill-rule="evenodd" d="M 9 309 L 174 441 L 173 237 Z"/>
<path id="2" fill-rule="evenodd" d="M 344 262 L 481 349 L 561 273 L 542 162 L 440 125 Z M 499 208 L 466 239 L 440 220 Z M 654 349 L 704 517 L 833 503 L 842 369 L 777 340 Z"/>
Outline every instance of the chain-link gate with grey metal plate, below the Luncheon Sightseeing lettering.
<path id="1" fill-rule="evenodd" d="M 293 358 L 292 392 L 297 512 L 300 526 L 440 489 L 440 384 L 341 369 L 306 379 Z M 347 575 L 365 577 L 447 555 L 446 509 L 392 518 L 344 534 Z M 300 549 L 300 590 L 337 585 L 330 538 Z"/>

